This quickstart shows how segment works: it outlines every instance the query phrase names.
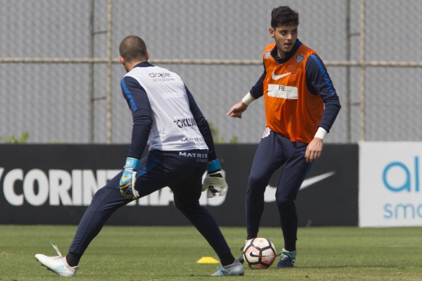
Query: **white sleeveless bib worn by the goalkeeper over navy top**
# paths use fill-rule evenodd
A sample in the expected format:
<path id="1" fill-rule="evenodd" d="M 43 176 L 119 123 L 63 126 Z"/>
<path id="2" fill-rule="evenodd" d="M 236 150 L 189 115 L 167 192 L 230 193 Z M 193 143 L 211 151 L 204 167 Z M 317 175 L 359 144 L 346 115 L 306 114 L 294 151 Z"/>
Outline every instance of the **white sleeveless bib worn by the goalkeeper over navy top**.
<path id="1" fill-rule="evenodd" d="M 190 112 L 188 95 L 180 76 L 162 67 L 135 67 L 131 76 L 146 91 L 153 109 L 149 150 L 208 149 Z"/>

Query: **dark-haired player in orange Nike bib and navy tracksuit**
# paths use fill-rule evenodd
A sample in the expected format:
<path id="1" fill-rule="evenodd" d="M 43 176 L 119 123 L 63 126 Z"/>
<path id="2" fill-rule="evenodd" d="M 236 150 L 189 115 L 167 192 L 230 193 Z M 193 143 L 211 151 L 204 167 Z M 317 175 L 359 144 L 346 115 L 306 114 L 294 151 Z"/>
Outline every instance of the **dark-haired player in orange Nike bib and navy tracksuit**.
<path id="1" fill-rule="evenodd" d="M 274 43 L 263 51 L 264 72 L 227 115 L 242 117 L 249 104 L 264 96 L 266 128 L 256 149 L 246 192 L 247 240 L 256 238 L 264 210 L 264 192 L 283 166 L 276 191 L 284 247 L 277 267 L 296 261 L 298 215 L 295 199 L 322 140 L 340 111 L 333 82 L 318 54 L 298 40 L 299 14 L 287 6 L 271 12 Z"/>

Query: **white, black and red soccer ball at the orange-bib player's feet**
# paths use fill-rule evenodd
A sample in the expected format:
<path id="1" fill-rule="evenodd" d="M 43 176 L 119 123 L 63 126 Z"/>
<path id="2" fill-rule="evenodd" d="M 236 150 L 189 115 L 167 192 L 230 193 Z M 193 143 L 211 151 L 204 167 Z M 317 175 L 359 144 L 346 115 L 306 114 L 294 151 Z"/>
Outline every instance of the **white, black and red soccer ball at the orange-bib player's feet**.
<path id="1" fill-rule="evenodd" d="M 243 247 L 243 259 L 251 269 L 267 269 L 276 259 L 276 247 L 267 238 L 253 238 Z"/>

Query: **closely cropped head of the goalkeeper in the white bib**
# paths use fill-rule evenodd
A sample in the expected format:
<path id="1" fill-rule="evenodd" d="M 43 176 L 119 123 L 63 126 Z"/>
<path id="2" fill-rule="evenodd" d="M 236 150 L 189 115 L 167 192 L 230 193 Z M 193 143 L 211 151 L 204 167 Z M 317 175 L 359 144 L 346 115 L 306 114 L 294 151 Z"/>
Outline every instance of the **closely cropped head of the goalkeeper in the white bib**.
<path id="1" fill-rule="evenodd" d="M 129 63 L 146 59 L 145 42 L 136 35 L 129 35 L 123 38 L 119 46 L 120 56 Z"/>

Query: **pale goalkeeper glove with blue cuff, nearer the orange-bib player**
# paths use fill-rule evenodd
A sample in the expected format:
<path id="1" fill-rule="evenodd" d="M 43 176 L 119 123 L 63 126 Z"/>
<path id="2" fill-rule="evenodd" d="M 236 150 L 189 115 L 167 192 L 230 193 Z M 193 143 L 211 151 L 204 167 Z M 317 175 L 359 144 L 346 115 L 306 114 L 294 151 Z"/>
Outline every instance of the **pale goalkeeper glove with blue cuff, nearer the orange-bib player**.
<path id="1" fill-rule="evenodd" d="M 207 170 L 207 176 L 202 184 L 202 191 L 207 190 L 208 198 L 216 196 L 217 193 L 219 193 L 219 196 L 225 196 L 228 186 L 221 172 L 219 159 L 210 161 Z"/>

